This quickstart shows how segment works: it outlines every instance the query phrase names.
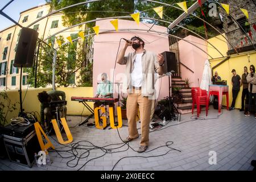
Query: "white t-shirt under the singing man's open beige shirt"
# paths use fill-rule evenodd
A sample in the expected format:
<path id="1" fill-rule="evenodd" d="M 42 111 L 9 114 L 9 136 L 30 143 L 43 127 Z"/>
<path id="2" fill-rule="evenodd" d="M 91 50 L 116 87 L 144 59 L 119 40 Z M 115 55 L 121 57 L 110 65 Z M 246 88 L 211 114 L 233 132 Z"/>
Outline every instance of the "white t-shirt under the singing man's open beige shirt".
<path id="1" fill-rule="evenodd" d="M 137 53 L 136 59 L 134 61 L 134 69 L 131 73 L 131 85 L 135 87 L 140 87 L 142 82 L 142 55 L 143 53 Z"/>

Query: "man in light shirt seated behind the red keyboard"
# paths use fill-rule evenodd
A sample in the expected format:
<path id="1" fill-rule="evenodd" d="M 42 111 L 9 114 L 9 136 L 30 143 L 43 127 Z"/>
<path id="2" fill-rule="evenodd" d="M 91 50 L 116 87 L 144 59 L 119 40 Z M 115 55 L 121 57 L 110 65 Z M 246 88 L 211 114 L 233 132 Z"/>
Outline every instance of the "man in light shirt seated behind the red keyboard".
<path id="1" fill-rule="evenodd" d="M 108 75 L 106 73 L 101 74 L 101 82 L 98 83 L 97 93 L 95 97 L 113 98 L 113 83 L 108 80 Z M 100 101 L 94 102 L 94 109 L 101 105 L 102 102 Z M 115 104 L 109 103 L 108 105 L 110 107 L 113 107 L 113 111 L 115 113 Z"/>

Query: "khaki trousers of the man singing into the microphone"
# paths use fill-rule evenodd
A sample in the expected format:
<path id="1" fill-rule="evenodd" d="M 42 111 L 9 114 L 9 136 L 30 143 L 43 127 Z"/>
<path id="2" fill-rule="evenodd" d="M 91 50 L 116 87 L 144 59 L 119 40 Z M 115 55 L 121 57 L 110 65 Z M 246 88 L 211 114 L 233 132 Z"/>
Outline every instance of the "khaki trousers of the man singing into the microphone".
<path id="1" fill-rule="evenodd" d="M 136 116 L 139 109 L 141 119 L 141 146 L 148 146 L 149 143 L 151 104 L 152 100 L 148 100 L 148 97 L 142 97 L 141 90 L 133 89 L 133 93 L 128 94 L 126 114 L 128 119 L 129 137 L 137 138 L 139 136 L 136 123 Z"/>

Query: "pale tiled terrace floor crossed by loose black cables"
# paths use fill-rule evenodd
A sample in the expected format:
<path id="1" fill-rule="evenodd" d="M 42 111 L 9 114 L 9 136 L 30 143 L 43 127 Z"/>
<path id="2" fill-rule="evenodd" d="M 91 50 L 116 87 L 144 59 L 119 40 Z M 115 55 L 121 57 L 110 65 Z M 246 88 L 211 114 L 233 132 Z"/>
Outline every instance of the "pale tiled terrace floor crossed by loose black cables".
<path id="1" fill-rule="evenodd" d="M 119 135 L 127 137 L 127 126 L 118 131 L 110 127 L 99 130 L 86 124 L 78 126 L 84 118 L 69 116 L 73 144 L 61 146 L 53 140 L 55 136 L 49 137 L 56 149 L 63 151 L 50 152 L 51 163 L 40 167 L 34 164 L 29 168 L 5 159 L 0 160 L 0 169 L 252 170 L 250 162 L 256 159 L 256 119 L 253 115 L 244 117 L 237 109 L 222 109 L 222 112 L 217 118 L 217 110 L 210 107 L 208 117 L 203 111 L 200 117 L 205 119 L 197 120 L 191 119 L 192 114 L 181 115 L 180 122 L 169 122 L 162 129 L 151 132 L 150 146 L 142 154 L 134 151 L 140 139 L 130 142 L 128 147 L 119 138 Z M 127 121 L 123 121 L 123 125 L 127 125 Z M 209 164 L 214 163 L 214 154 L 216 164 Z"/>

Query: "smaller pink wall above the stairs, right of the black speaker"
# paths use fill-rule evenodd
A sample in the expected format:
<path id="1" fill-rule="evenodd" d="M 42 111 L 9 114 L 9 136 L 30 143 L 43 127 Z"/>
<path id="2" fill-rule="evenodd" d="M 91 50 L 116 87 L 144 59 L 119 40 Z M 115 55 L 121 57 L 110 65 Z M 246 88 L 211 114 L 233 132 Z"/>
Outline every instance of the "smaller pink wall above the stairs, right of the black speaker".
<path id="1" fill-rule="evenodd" d="M 206 43 L 203 39 L 189 35 L 185 38 L 185 40 L 188 40 L 189 42 L 195 44 L 197 47 L 200 47 L 205 52 L 207 52 Z M 191 87 L 200 86 L 204 71 L 205 59 L 208 57 L 206 53 L 197 47 L 189 44 L 188 42 L 185 42 L 184 40 L 179 41 L 180 62 L 195 72 L 192 73 L 189 71 L 189 69 L 185 68 L 183 65 L 180 65 L 182 80 L 189 78 L 189 81 L 192 82 Z M 197 79 L 199 79 L 199 81 Z"/>

